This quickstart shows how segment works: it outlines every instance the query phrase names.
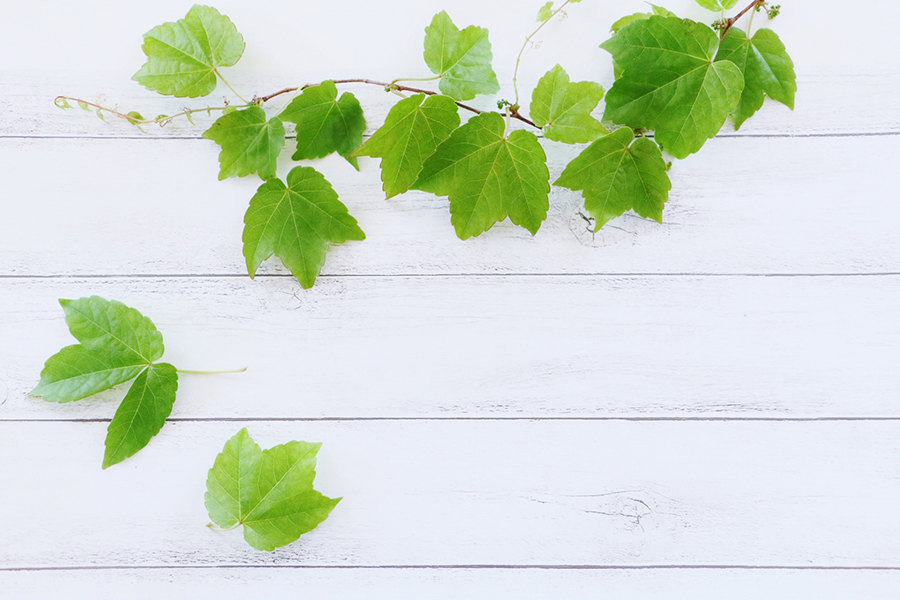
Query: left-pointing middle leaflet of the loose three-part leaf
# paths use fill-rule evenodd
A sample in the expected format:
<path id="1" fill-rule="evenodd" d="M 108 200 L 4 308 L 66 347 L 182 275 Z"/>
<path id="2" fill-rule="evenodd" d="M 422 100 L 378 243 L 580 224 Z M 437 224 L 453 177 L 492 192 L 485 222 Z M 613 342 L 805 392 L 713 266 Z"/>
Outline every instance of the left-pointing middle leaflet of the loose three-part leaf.
<path id="1" fill-rule="evenodd" d="M 133 379 L 146 366 L 133 354 L 90 351 L 80 344 L 66 346 L 47 359 L 41 382 L 31 394 L 48 402 L 81 400 Z"/>

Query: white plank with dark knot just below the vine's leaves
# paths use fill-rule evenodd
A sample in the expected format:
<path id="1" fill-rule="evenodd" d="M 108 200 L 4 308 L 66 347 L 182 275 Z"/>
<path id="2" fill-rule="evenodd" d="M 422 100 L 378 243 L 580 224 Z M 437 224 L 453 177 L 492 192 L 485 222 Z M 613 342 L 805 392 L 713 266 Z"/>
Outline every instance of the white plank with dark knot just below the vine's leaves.
<path id="1" fill-rule="evenodd" d="M 900 271 L 900 136 L 717 139 L 679 163 L 665 224 L 625 215 L 596 235 L 555 188 L 536 237 L 509 222 L 465 242 L 444 198 L 390 201 L 375 161 L 317 164 L 367 233 L 326 274 L 872 273 Z M 576 148 L 561 148 L 555 179 Z M 287 158 L 287 157 L 285 157 Z M 0 274 L 241 274 L 259 181 L 216 181 L 206 140 L 0 140 Z M 285 161 L 282 175 L 290 168 Z M 285 274 L 280 261 L 262 273 Z"/>

